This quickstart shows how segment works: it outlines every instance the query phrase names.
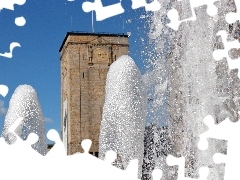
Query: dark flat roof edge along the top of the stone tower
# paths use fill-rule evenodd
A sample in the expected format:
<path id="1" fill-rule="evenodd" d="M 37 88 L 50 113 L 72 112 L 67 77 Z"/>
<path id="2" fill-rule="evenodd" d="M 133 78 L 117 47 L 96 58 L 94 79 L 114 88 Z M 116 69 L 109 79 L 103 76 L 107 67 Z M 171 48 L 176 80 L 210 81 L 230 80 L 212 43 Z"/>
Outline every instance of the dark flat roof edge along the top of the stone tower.
<path id="1" fill-rule="evenodd" d="M 80 35 L 80 36 L 107 36 L 107 37 L 126 37 L 128 38 L 129 35 L 128 34 L 124 34 L 124 33 L 106 33 L 106 32 L 98 32 L 98 33 L 88 33 L 88 32 L 85 32 L 85 31 L 71 31 L 71 32 L 67 32 L 63 42 L 62 42 L 62 45 L 59 49 L 59 52 L 62 51 L 62 48 L 68 38 L 69 35 Z"/>

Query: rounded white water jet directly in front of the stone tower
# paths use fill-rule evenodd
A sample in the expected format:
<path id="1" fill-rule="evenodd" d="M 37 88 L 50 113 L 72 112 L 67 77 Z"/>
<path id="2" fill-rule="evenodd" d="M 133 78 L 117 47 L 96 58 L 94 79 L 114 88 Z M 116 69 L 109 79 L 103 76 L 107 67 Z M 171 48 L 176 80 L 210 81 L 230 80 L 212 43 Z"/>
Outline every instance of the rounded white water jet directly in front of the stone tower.
<path id="1" fill-rule="evenodd" d="M 127 55 L 118 58 L 107 74 L 105 103 L 99 137 L 99 156 L 108 150 L 117 153 L 116 166 L 126 169 L 138 159 L 141 177 L 146 118 L 146 90 L 134 61 Z"/>

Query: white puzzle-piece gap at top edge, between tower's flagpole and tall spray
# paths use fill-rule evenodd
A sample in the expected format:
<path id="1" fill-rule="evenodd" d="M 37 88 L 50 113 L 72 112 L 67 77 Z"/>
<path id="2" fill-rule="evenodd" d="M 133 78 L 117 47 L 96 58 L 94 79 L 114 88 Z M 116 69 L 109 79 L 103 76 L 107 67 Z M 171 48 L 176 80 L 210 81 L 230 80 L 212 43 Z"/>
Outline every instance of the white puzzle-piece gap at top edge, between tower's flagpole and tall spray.
<path id="1" fill-rule="evenodd" d="M 158 11 L 161 5 L 158 0 L 153 0 L 151 3 L 147 3 L 146 0 L 132 0 L 132 9 L 140 7 L 145 7 L 146 11 Z"/>

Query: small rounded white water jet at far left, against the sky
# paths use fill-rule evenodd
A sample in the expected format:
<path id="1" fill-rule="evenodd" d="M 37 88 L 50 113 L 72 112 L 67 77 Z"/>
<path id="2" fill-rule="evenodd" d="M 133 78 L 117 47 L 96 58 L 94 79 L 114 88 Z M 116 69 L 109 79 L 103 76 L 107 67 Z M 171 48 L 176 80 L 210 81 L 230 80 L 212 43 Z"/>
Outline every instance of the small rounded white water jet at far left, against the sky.
<path id="1" fill-rule="evenodd" d="M 15 130 L 15 133 L 22 139 L 26 139 L 32 132 L 36 133 L 39 139 L 32 147 L 40 154 L 46 155 L 47 144 L 45 141 L 44 118 L 37 93 L 29 85 L 18 86 L 10 99 L 2 132 L 2 137 L 8 144 L 16 141 L 16 137 L 8 129 L 20 117 L 24 119 Z"/>

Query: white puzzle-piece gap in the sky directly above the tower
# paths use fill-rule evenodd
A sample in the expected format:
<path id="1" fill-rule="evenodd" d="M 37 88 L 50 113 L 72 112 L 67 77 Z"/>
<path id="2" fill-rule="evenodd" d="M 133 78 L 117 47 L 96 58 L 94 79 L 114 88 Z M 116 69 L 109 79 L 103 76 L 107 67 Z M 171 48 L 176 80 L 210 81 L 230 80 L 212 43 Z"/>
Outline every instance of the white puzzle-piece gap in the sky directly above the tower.
<path id="1" fill-rule="evenodd" d="M 84 2 L 82 4 L 82 9 L 84 12 L 95 11 L 97 21 L 103 21 L 109 17 L 124 13 L 121 1 L 119 3 L 108 6 L 103 6 L 101 0 L 95 0 L 94 2 Z"/>

